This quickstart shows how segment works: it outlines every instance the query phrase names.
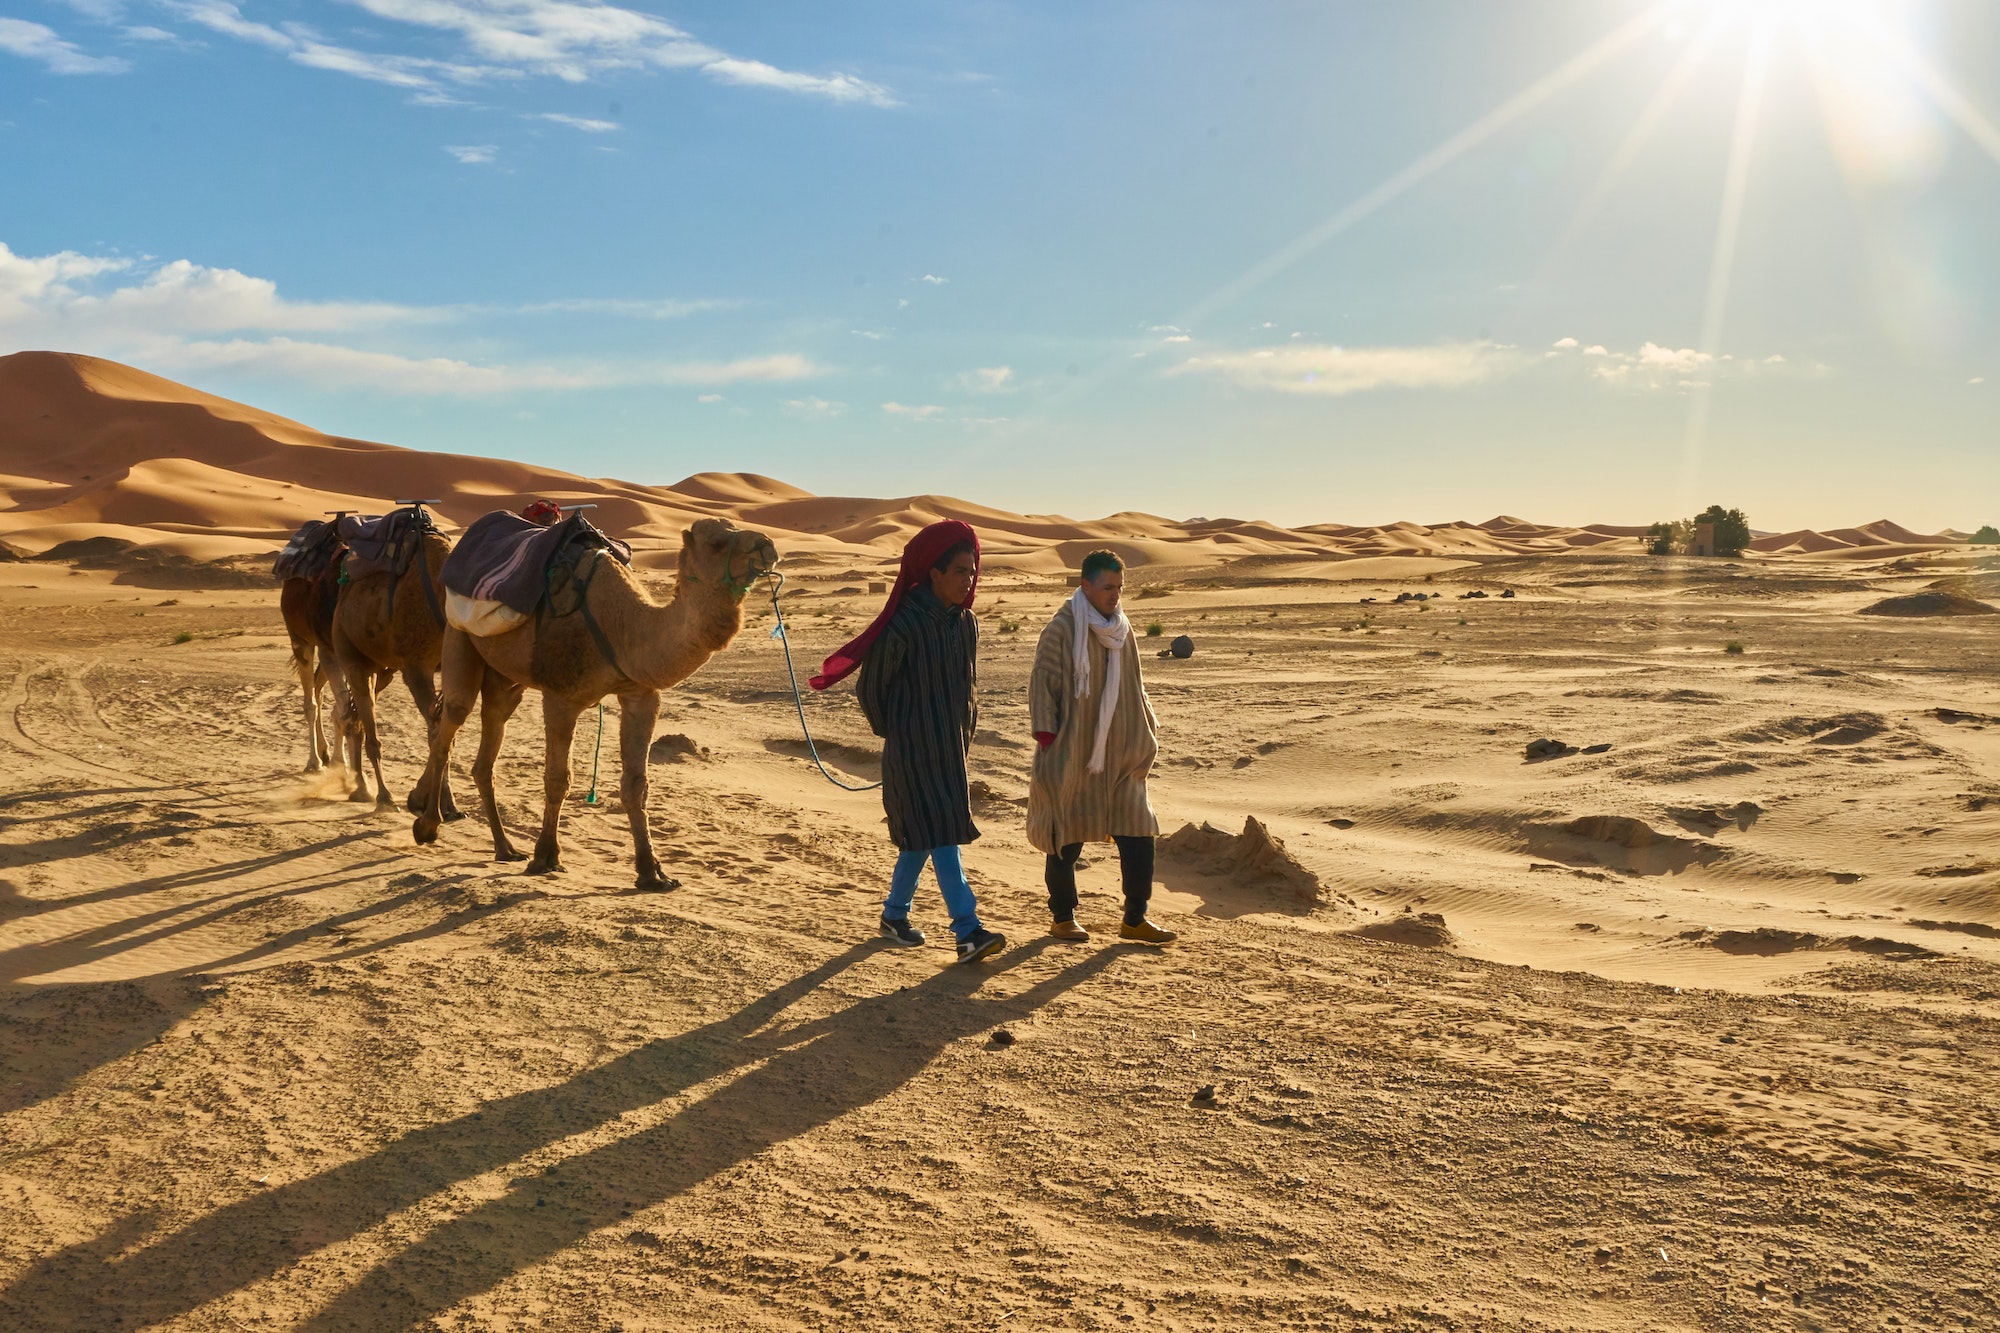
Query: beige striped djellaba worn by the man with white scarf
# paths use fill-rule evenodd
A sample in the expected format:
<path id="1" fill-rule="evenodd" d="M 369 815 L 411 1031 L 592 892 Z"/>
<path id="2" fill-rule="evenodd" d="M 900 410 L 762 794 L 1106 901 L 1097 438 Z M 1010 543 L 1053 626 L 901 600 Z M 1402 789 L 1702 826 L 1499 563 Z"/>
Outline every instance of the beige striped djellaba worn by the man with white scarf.
<path id="1" fill-rule="evenodd" d="M 1028 679 L 1028 719 L 1034 731 L 1056 735 L 1056 743 L 1034 755 L 1028 783 L 1028 841 L 1056 855 L 1068 843 L 1102 843 L 1112 837 L 1160 837 L 1160 821 L 1146 795 L 1146 775 L 1160 753 L 1160 719 L 1140 681 L 1138 634 L 1126 638 L 1122 681 L 1112 727 L 1104 739 L 1104 771 L 1090 773 L 1096 743 L 1098 697 L 1104 691 L 1104 662 L 1110 652 L 1090 634 L 1090 693 L 1076 697 L 1076 610 L 1070 602 L 1042 630 Z"/>

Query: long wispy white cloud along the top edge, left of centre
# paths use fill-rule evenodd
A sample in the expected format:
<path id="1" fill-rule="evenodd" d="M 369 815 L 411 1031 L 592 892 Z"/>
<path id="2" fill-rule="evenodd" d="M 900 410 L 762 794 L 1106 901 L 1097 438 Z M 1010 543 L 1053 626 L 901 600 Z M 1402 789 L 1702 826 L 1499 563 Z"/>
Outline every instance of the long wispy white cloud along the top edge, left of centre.
<path id="1" fill-rule="evenodd" d="M 230 0 L 162 0 L 212 32 L 276 50 L 298 64 L 356 78 L 432 88 L 544 76 L 584 82 L 622 70 L 698 70 L 724 84 L 776 88 L 830 102 L 896 106 L 896 98 L 852 74 L 804 74 L 720 52 L 664 18 L 594 0 L 354 0 L 398 24 L 446 32 L 460 60 L 368 54 L 322 40 L 304 24 L 244 18 Z M 582 126 L 578 126 L 582 128 Z"/>

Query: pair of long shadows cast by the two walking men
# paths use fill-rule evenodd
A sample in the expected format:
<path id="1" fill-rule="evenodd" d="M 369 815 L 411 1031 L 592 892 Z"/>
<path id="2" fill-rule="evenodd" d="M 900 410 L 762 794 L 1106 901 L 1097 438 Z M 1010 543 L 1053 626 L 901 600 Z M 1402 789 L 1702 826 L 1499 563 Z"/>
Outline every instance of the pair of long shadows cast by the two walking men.
<path id="1" fill-rule="evenodd" d="M 136 1227 L 114 1223 L 46 1255 L 0 1291 L 0 1325 L 108 1329 L 176 1319 L 458 1181 L 748 1069 L 650 1129 L 516 1179 L 506 1195 L 434 1227 L 298 1325 L 404 1329 L 636 1209 L 888 1097 L 950 1043 L 1020 1021 L 1122 957 L 1092 953 L 1018 995 L 978 999 L 984 985 L 1040 955 L 1030 945 L 998 967 L 946 967 L 904 991 L 764 1031 L 874 951 L 848 949 L 728 1019 L 646 1043 L 558 1087 L 416 1129 L 370 1157 L 252 1195 L 168 1235 L 140 1243 Z"/>

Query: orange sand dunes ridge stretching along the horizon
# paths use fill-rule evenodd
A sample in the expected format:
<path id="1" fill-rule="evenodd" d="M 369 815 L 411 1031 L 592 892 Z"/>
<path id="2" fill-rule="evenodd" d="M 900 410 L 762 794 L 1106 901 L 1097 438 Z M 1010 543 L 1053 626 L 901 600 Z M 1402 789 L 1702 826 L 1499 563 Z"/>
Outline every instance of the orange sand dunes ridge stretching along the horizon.
<path id="1" fill-rule="evenodd" d="M 334 508 L 380 510 L 436 500 L 448 524 L 530 498 L 598 504 L 602 526 L 632 540 L 642 566 L 670 564 L 680 530 L 718 514 L 754 524 L 794 558 L 882 562 L 910 532 L 964 518 L 988 560 L 1056 572 L 1094 546 L 1136 566 L 1222 566 L 1246 556 L 1356 558 L 1540 556 L 1634 552 L 1644 526 L 1486 522 L 1308 524 L 1254 518 L 1104 518 L 1016 514 L 940 494 L 822 496 L 754 472 L 700 472 L 672 486 L 578 476 L 504 458 L 434 454 L 324 434 L 242 402 L 96 356 L 0 356 L 0 544 L 38 554 L 110 536 L 192 556 L 276 550 L 306 518 Z M 1798 530 L 1750 544 L 1766 556 L 1894 558 L 1964 544 L 1878 520 Z"/>

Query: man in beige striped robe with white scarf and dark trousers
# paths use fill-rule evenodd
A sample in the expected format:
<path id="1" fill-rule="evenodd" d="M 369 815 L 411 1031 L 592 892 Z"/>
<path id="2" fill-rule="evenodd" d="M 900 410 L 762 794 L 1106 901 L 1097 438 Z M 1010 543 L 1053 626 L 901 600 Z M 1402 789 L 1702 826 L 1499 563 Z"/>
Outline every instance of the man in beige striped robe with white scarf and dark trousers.
<path id="1" fill-rule="evenodd" d="M 1028 841 L 1048 855 L 1048 933 L 1088 941 L 1076 923 L 1076 859 L 1084 843 L 1118 845 L 1124 925 L 1118 939 L 1166 945 L 1172 931 L 1146 919 L 1152 841 L 1160 821 L 1146 775 L 1160 753 L 1160 721 L 1138 673 L 1138 642 L 1118 604 L 1124 562 L 1110 550 L 1084 556 L 1082 582 L 1042 630 L 1028 679 L 1034 779 Z"/>

